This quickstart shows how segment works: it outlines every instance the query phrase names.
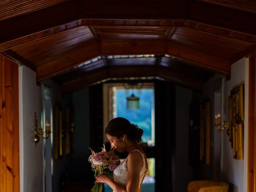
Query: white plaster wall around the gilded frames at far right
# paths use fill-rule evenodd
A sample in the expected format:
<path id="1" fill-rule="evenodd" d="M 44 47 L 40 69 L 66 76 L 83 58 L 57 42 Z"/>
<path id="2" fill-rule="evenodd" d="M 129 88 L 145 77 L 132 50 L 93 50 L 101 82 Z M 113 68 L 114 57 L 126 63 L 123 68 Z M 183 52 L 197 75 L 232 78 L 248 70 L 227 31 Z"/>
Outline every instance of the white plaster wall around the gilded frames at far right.
<path id="1" fill-rule="evenodd" d="M 231 79 L 225 82 L 224 85 L 224 111 L 228 117 L 228 96 L 230 90 L 234 87 L 245 84 L 245 122 L 244 122 L 244 160 L 236 160 L 233 158 L 233 151 L 231 148 L 228 135 L 224 134 L 222 137 L 222 180 L 234 184 L 233 192 L 247 191 L 247 142 L 248 142 L 248 61 L 246 58 L 239 60 L 231 66 Z M 246 115 L 247 114 L 247 115 Z M 247 117 L 247 118 L 246 118 Z"/>

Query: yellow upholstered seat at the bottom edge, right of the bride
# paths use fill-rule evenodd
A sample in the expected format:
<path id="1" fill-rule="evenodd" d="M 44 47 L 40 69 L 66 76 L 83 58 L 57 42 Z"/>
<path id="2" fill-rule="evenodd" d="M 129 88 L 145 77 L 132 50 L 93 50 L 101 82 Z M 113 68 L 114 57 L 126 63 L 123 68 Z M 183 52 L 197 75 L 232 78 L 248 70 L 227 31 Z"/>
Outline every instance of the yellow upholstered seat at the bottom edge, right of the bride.
<path id="1" fill-rule="evenodd" d="M 189 182 L 188 192 L 228 192 L 228 184 L 212 180 L 196 180 Z"/>

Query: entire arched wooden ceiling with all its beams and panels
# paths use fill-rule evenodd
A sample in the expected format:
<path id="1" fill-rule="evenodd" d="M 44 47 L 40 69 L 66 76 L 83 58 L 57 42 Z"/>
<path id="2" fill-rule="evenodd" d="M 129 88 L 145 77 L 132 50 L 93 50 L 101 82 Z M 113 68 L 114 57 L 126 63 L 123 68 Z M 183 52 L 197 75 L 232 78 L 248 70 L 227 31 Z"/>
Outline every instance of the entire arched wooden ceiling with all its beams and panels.
<path id="1" fill-rule="evenodd" d="M 122 77 L 200 89 L 256 52 L 255 23 L 245 0 L 8 0 L 0 53 L 65 91 Z"/>

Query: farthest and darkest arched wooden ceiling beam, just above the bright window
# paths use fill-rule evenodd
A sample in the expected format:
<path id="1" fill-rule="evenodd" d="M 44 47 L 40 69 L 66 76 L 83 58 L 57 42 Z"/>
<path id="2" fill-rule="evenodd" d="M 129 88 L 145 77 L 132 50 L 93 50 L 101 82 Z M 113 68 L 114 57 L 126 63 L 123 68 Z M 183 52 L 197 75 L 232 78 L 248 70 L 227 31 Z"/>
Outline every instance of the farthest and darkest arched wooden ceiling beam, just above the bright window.
<path id="1" fill-rule="evenodd" d="M 85 73 L 83 77 L 64 82 L 62 90 L 63 92 L 70 92 L 107 79 L 131 77 L 160 77 L 196 90 L 202 89 L 200 79 L 185 76 L 162 66 L 109 66 Z"/>

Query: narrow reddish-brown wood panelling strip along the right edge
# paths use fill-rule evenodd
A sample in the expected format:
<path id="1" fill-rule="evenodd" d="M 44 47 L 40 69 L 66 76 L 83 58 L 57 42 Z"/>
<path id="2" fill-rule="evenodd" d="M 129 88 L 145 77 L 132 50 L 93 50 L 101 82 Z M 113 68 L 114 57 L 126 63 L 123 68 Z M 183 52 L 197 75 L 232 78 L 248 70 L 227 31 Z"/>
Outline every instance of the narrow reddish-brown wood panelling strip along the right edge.
<path id="1" fill-rule="evenodd" d="M 249 58 L 248 192 L 256 192 L 256 54 Z"/>

